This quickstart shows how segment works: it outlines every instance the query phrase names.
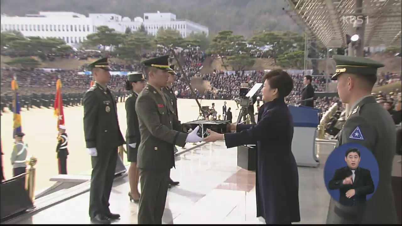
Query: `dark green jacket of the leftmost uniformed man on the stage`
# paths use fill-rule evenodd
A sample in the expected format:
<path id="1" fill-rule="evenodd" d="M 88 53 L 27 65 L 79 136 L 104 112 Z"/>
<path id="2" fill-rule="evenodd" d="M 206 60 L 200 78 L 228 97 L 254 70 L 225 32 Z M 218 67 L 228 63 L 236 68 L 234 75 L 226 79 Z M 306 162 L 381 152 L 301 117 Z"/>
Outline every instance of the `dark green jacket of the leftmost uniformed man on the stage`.
<path id="1" fill-rule="evenodd" d="M 125 144 L 117 119 L 116 98 L 110 89 L 104 90 L 95 82 L 86 91 L 82 102 L 86 148 L 96 148 L 99 152 Z"/>

